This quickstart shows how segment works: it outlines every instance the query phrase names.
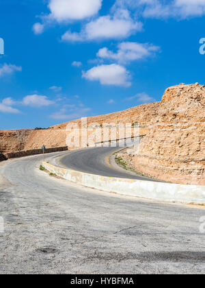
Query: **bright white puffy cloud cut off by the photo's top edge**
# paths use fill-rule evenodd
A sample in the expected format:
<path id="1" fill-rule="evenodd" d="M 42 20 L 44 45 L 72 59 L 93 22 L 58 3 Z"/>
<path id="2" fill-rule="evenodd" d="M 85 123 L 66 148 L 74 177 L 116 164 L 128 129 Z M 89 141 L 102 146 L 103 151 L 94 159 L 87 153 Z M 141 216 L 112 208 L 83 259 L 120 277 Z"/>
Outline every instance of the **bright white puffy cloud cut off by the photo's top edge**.
<path id="1" fill-rule="evenodd" d="M 102 0 L 50 0 L 50 18 L 57 22 L 82 20 L 98 13 Z"/>

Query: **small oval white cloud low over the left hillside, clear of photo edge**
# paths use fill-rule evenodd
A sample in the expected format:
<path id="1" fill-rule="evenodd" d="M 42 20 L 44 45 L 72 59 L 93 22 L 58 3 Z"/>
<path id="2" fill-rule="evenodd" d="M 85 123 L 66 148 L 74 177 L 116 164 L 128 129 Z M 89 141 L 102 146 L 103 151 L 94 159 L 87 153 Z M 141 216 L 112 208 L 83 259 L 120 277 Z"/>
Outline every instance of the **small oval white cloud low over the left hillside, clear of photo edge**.
<path id="1" fill-rule="evenodd" d="M 22 104 L 25 106 L 31 107 L 42 107 L 42 106 L 49 106 L 54 104 L 54 101 L 51 101 L 46 96 L 42 95 L 27 95 L 23 98 Z"/>

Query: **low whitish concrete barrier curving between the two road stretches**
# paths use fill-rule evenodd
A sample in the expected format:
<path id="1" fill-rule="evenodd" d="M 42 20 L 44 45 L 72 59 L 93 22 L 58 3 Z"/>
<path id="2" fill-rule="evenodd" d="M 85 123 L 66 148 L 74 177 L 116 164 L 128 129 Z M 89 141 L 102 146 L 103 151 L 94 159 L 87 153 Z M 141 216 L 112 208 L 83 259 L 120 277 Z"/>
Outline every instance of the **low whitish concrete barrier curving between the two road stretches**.
<path id="1" fill-rule="evenodd" d="M 85 187 L 165 202 L 205 204 L 205 186 L 111 178 L 55 167 L 46 162 L 43 162 L 42 165 L 49 172 Z"/>

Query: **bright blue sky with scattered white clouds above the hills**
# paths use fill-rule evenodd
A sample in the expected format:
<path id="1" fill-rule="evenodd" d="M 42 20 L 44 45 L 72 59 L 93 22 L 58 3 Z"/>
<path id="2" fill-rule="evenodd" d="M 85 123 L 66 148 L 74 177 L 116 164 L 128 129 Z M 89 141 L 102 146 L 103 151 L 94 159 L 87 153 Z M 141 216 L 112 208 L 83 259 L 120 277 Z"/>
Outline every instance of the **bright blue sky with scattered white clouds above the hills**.
<path id="1" fill-rule="evenodd" d="M 1 0 L 0 129 L 49 127 L 205 84 L 205 0 Z"/>

